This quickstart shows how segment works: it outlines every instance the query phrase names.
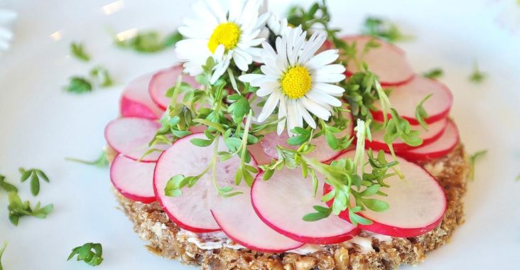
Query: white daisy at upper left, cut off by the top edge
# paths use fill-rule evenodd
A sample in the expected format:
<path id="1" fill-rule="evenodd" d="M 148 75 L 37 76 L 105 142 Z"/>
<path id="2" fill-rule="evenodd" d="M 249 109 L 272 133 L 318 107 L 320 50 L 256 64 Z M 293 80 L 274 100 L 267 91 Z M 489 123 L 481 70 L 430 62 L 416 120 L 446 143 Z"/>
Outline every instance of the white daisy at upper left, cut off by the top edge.
<path id="1" fill-rule="evenodd" d="M 233 60 L 240 70 L 247 71 L 254 58 L 259 58 L 259 35 L 269 13 L 259 16 L 261 0 L 230 0 L 229 10 L 223 10 L 216 0 L 198 1 L 193 5 L 194 18 L 185 18 L 178 31 L 186 39 L 176 45 L 178 58 L 185 62 L 190 75 L 202 73 L 207 58 L 215 59 L 210 79 L 215 83 Z"/>

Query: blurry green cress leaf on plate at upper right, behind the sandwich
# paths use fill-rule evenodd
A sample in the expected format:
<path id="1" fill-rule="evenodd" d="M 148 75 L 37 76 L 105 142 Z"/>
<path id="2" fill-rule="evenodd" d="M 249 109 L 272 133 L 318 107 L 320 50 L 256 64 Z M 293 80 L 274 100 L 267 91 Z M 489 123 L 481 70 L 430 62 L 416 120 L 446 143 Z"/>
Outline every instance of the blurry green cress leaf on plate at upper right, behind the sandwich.
<path id="1" fill-rule="evenodd" d="M 411 39 L 411 36 L 401 33 L 395 23 L 376 17 L 367 17 L 365 19 L 361 33 L 382 38 L 391 43 Z"/>

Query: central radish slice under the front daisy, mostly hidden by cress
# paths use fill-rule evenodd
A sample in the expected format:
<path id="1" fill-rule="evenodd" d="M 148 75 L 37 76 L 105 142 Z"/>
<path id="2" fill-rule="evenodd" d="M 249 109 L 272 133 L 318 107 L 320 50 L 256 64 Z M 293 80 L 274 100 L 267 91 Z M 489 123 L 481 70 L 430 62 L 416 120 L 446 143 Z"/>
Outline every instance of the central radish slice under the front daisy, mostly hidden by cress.
<path id="1" fill-rule="evenodd" d="M 350 119 L 349 126 L 347 126 L 347 129 L 342 131 L 340 134 L 337 134 L 337 137 L 347 136 L 348 134 L 352 134 L 354 130 L 354 125 L 352 124 L 352 114 L 348 113 L 345 114 L 345 117 L 347 119 Z M 264 136 L 264 139 L 261 141 L 261 145 L 264 148 L 264 152 L 267 156 L 270 156 L 271 158 L 278 159 L 278 151 L 276 151 L 276 146 L 281 146 L 283 148 L 290 148 L 290 149 L 298 149 L 298 146 L 290 146 L 287 144 L 287 139 L 289 139 L 289 135 L 286 131 L 283 131 L 281 135 L 276 134 L 276 132 L 271 132 L 269 134 L 266 134 Z M 312 144 L 317 146 L 314 151 L 310 152 L 308 156 L 310 158 L 316 158 L 318 161 L 326 162 L 332 160 L 332 158 L 335 158 L 337 155 L 339 155 L 341 152 L 336 151 L 327 144 L 327 139 L 325 139 L 325 136 L 319 136 L 317 139 L 313 139 L 311 141 Z"/>

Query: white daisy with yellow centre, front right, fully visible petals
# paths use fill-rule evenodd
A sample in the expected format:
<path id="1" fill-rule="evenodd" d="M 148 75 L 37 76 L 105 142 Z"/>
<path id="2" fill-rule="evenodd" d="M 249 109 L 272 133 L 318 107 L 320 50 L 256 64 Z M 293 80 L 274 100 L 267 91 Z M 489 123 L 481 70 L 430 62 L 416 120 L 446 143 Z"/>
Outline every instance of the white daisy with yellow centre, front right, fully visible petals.
<path id="1" fill-rule="evenodd" d="M 267 97 L 266 103 L 258 116 L 258 121 L 265 121 L 278 107 L 278 135 L 287 125 L 288 134 L 296 126 L 303 127 L 305 121 L 316 128 L 314 117 L 328 120 L 332 107 L 340 107 L 338 97 L 345 91 L 334 85 L 345 80 L 345 67 L 332 64 L 337 58 L 337 50 L 325 50 L 315 55 L 325 42 L 322 33 L 313 33 L 305 41 L 307 33 L 300 27 L 292 28 L 286 35 L 276 38 L 276 51 L 269 43 L 262 43 L 261 51 L 263 74 L 247 74 L 239 77 L 259 87 L 256 95 Z"/>

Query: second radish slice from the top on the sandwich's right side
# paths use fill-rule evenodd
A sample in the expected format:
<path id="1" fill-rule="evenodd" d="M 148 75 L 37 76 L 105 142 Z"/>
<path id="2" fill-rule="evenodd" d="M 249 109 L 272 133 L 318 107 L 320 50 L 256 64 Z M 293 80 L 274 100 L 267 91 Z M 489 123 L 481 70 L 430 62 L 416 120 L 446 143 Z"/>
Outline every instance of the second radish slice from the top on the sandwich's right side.
<path id="1" fill-rule="evenodd" d="M 430 124 L 446 118 L 453 105 L 453 95 L 443 83 L 416 76 L 405 85 L 396 87 L 391 92 L 389 99 L 392 107 L 399 112 L 401 117 L 407 119 L 410 124 L 419 124 L 416 119 L 416 107 L 421 100 L 430 94 L 433 95 L 423 104 L 424 109 L 428 112 L 428 118 L 425 121 Z M 381 104 L 376 102 L 375 106 L 379 111 L 372 112 L 374 119 L 383 121 L 383 113 L 380 111 Z"/>

